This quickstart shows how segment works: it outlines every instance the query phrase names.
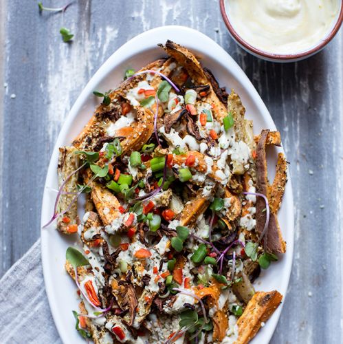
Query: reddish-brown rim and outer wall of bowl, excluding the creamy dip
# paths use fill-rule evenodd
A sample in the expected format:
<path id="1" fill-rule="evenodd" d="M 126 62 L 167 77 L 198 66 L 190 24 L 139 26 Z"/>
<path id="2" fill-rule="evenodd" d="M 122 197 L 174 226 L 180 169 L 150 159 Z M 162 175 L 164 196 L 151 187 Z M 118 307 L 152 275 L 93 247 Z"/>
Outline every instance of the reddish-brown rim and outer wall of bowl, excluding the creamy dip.
<path id="1" fill-rule="evenodd" d="M 249 43 L 244 41 L 241 38 L 241 36 L 239 36 L 239 34 L 236 32 L 236 30 L 234 30 L 234 26 L 230 22 L 230 14 L 225 9 L 225 0 L 220 0 L 220 6 L 221 15 L 223 16 L 225 25 L 228 27 L 230 35 L 236 41 L 236 43 L 238 43 L 245 51 L 250 52 L 250 54 L 253 54 L 254 56 L 257 56 L 259 58 L 263 58 L 264 60 L 273 62 L 295 62 L 308 58 L 314 54 L 317 54 L 331 41 L 331 39 L 333 39 L 335 34 L 337 34 L 338 30 L 340 30 L 340 26 L 342 25 L 343 21 L 343 1 L 341 1 L 340 13 L 338 14 L 338 17 L 335 21 L 335 25 L 333 25 L 331 32 L 329 32 L 329 34 L 324 39 L 322 39 L 322 41 L 318 42 L 318 45 L 316 45 L 315 47 L 311 47 L 311 49 L 306 50 L 304 52 L 298 52 L 294 54 L 292 54 L 291 52 L 289 52 L 289 54 L 272 54 L 270 52 L 264 52 L 263 50 L 259 50 L 257 47 L 254 47 L 253 45 L 250 45 Z"/>

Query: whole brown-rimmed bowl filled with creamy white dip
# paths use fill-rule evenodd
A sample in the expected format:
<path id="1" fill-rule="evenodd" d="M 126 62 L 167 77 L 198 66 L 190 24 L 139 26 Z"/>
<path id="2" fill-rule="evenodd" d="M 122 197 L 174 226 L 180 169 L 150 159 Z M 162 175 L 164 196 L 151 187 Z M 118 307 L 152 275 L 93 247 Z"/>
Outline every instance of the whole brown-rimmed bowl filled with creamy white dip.
<path id="1" fill-rule="evenodd" d="M 316 54 L 343 21 L 343 0 L 220 0 L 220 5 L 232 38 L 267 61 Z"/>

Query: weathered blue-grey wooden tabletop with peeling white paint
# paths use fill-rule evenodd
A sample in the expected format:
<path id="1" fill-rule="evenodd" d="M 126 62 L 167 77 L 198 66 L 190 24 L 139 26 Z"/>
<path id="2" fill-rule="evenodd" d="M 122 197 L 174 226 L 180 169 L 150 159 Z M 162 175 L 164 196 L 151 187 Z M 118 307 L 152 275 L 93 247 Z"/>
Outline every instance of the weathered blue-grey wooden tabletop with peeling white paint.
<path id="1" fill-rule="evenodd" d="M 246 54 L 230 39 L 217 0 L 80 0 L 65 14 L 42 15 L 36 2 L 0 2 L 0 276 L 39 237 L 52 148 L 87 80 L 136 34 L 187 25 L 241 65 L 281 131 L 291 162 L 294 266 L 272 343 L 342 343 L 342 32 L 320 54 L 278 65 Z M 75 34 L 73 43 L 61 41 L 62 26 Z"/>

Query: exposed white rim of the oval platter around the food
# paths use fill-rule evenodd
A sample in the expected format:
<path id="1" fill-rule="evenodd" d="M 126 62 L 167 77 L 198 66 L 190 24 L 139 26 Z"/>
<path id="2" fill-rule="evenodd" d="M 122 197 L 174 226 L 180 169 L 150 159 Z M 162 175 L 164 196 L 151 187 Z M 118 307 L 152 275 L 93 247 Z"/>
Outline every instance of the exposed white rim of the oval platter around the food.
<path id="1" fill-rule="evenodd" d="M 47 222 L 49 216 L 51 216 L 52 209 L 47 205 L 49 204 L 49 192 L 47 191 L 47 186 L 51 184 L 56 184 L 57 175 L 56 175 L 56 166 L 58 161 L 58 147 L 63 145 L 65 142 L 66 137 L 71 130 L 71 124 L 74 122 L 76 116 L 82 111 L 82 107 L 85 106 L 87 103 L 87 99 L 91 96 L 92 92 L 96 87 L 102 83 L 102 81 L 113 72 L 118 65 L 122 64 L 127 58 L 134 58 L 137 54 L 142 54 L 146 50 L 151 50 L 156 47 L 155 42 L 157 43 L 164 43 L 166 39 L 172 39 L 181 45 L 186 45 L 190 48 L 190 50 L 198 50 L 202 52 L 204 55 L 210 55 L 206 51 L 206 48 L 209 45 L 212 45 L 212 49 L 210 51 L 215 52 L 215 56 L 210 55 L 212 58 L 215 58 L 217 63 L 222 65 L 225 64 L 225 69 L 233 74 L 236 80 L 238 81 L 239 85 L 242 89 L 245 90 L 247 95 L 249 96 L 250 100 L 254 103 L 257 107 L 259 114 L 256 115 L 261 116 L 262 120 L 267 123 L 267 127 L 269 129 L 276 129 L 274 121 L 272 120 L 272 116 L 270 116 L 267 107 L 263 103 L 263 100 L 258 95 L 258 92 L 250 82 L 249 78 L 245 75 L 241 67 L 233 60 L 233 58 L 225 52 L 223 48 L 210 39 L 205 34 L 187 28 L 185 26 L 178 26 L 178 25 L 170 25 L 170 26 L 163 26 L 159 28 L 154 28 L 143 32 L 142 34 L 138 34 L 137 36 L 133 37 L 130 41 L 124 43 L 121 47 L 118 48 L 111 56 L 105 61 L 98 71 L 93 75 L 93 77 L 89 80 L 89 83 L 82 89 L 80 96 L 78 96 L 76 102 L 71 107 L 65 122 L 63 123 L 62 128 L 60 129 L 60 133 L 58 134 L 58 138 L 56 140 L 56 144 L 54 146 L 54 150 L 52 153 L 52 157 L 49 162 L 49 167 L 47 169 L 47 177 L 45 180 L 44 192 L 43 192 L 43 204 L 42 204 L 42 211 L 41 211 L 41 226 Z M 154 43 L 153 43 L 153 42 Z M 143 42 L 143 43 L 142 43 Z M 144 43 L 145 42 L 145 43 Z M 187 43 L 188 42 L 188 43 Z M 201 44 L 199 42 L 202 42 Z M 156 47 L 156 49 L 159 49 Z M 162 55 L 162 54 L 161 54 Z M 238 92 L 239 93 L 239 92 Z M 243 101 L 243 104 L 245 102 Z M 254 116 L 252 116 L 254 117 Z M 278 149 L 278 151 L 283 151 L 283 148 Z M 280 317 L 281 310 L 283 308 L 283 304 L 285 303 L 285 294 L 287 292 L 289 278 L 291 275 L 291 265 L 293 261 L 293 248 L 294 248 L 294 211 L 293 211 L 293 193 L 291 188 L 291 180 L 290 176 L 288 178 L 286 193 L 287 196 L 287 204 L 283 204 L 283 207 L 280 211 L 286 213 L 287 217 L 287 252 L 285 253 L 285 267 L 283 269 L 283 279 L 284 283 L 282 284 L 282 289 L 280 292 L 283 294 L 283 303 L 278 307 L 276 312 L 274 312 L 273 316 L 269 321 L 266 323 L 265 327 L 263 327 L 263 332 L 259 332 L 252 343 L 257 343 L 258 341 L 263 341 L 268 343 L 270 338 L 274 333 L 276 325 L 278 323 L 278 319 Z M 41 258 L 42 258 L 42 265 L 43 265 L 43 277 L 45 282 L 45 290 L 47 293 L 47 299 L 49 301 L 49 307 L 52 312 L 52 316 L 54 318 L 54 323 L 58 330 L 58 334 L 60 338 L 63 340 L 64 343 L 69 342 L 68 331 L 66 331 L 63 324 L 60 323 L 59 318 L 61 316 L 58 309 L 61 305 L 58 305 L 58 300 L 56 299 L 56 294 L 54 293 L 54 286 L 52 285 L 52 273 L 49 271 L 49 264 L 51 264 L 51 260 L 53 258 L 49 257 L 49 244 L 52 244 L 52 239 L 50 235 L 56 236 L 60 235 L 52 226 L 41 230 Z M 283 228 L 283 232 L 285 233 L 285 228 Z M 57 269 L 57 273 L 59 272 L 60 267 Z M 56 288 L 56 287 L 55 287 Z M 74 324 L 72 326 L 74 330 Z M 75 330 L 74 330 L 75 331 Z M 75 331 L 76 332 L 76 331 Z M 84 341 L 80 337 L 80 343 Z"/>

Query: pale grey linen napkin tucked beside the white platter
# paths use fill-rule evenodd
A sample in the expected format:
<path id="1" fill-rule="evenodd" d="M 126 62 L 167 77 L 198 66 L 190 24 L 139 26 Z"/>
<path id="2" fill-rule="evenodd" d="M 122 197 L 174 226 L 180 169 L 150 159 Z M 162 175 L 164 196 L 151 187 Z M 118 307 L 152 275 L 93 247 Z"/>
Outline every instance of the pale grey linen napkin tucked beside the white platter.
<path id="1" fill-rule="evenodd" d="M 61 343 L 41 266 L 41 239 L 0 279 L 0 342 Z"/>

